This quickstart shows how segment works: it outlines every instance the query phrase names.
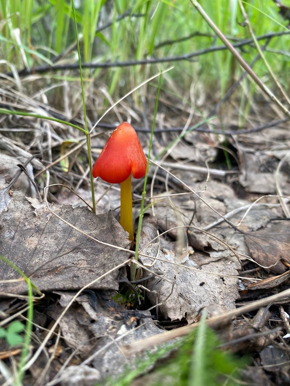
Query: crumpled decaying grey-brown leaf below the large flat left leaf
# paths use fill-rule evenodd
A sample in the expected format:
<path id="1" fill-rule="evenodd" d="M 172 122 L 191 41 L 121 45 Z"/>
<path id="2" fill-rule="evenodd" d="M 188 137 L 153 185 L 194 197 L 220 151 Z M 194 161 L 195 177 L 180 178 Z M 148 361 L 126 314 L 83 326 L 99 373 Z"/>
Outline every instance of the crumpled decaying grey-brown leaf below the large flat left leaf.
<path id="1" fill-rule="evenodd" d="M 48 310 L 55 320 L 75 295 L 73 292 L 57 293 L 61 296 L 59 304 L 54 303 Z M 108 373 L 120 374 L 124 366 L 130 365 L 131 369 L 136 366 L 136 357 L 126 358 L 118 342 L 129 344 L 162 332 L 149 311 L 126 310 L 104 291 L 89 291 L 78 296 L 67 315 L 60 321 L 61 335 L 69 347 L 78 348 L 78 355 L 95 354 L 92 363 L 102 379 Z"/>

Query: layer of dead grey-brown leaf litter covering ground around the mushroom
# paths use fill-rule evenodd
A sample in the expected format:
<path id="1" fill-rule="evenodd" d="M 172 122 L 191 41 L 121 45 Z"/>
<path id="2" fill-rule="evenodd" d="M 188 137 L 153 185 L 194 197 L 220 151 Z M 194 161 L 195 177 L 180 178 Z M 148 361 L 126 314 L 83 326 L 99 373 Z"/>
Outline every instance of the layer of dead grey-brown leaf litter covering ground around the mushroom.
<path id="1" fill-rule="evenodd" d="M 173 123 L 165 122 L 165 125 L 172 127 Z M 223 173 L 220 176 L 219 173 L 214 173 L 214 170 L 221 170 L 217 166 L 219 163 L 217 136 L 193 132 L 186 135 L 186 141 L 181 141 L 174 147 L 171 157 L 167 157 L 169 163 L 166 168 L 181 181 L 185 181 L 194 191 L 203 191 L 206 174 L 204 160 L 210 157 L 213 173 L 206 191 L 200 193 L 200 196 L 221 215 L 227 216 L 232 213 L 229 220 L 237 224 L 244 215 L 245 208 L 249 208 L 259 196 L 277 193 L 275 171 L 279 160 L 287 154 L 285 145 L 278 142 L 282 136 L 283 143 L 289 141 L 289 134 L 279 128 L 268 129 L 264 133 L 267 133 L 267 139 L 273 142 L 271 147 L 267 145 L 266 137 L 261 135 L 242 134 L 235 135 L 234 140 L 229 138 L 231 146 L 237 153 L 240 174 L 236 173 L 237 171 Z M 140 137 L 145 142 L 146 149 L 147 137 L 146 135 Z M 175 138 L 175 134 L 162 133 L 161 137 L 156 137 L 155 151 L 156 149 L 158 152 L 162 151 L 170 142 L 169 139 Z M 100 143 L 92 140 L 92 144 L 96 147 L 100 147 Z M 18 156 L 24 155 L 20 148 L 16 149 L 14 146 L 13 149 L 17 151 Z M 157 156 L 158 152 L 156 151 L 154 156 Z M 95 155 L 98 153 L 99 150 Z M 179 167 L 183 164 L 191 165 L 193 160 L 196 166 L 203 168 L 200 169 L 201 172 L 197 169 L 185 170 Z M 173 166 L 172 161 L 175 162 Z M 286 165 L 287 163 L 281 168 L 278 176 L 278 184 L 285 194 L 289 191 Z M 43 165 L 39 166 L 38 163 L 34 166 L 40 168 Z M 55 175 L 59 169 L 52 167 L 50 170 L 53 175 L 52 182 L 57 182 Z M 150 173 L 151 171 L 149 176 Z M 75 177 L 77 178 L 75 185 L 80 177 L 78 175 Z M 69 179 L 68 175 L 65 178 Z M 89 196 L 85 196 L 88 191 L 85 178 L 83 181 L 84 184 L 80 185 L 81 196 L 89 201 Z M 3 199 L 0 201 L 2 205 L 0 252 L 46 293 L 48 302 L 45 304 L 42 300 L 36 305 L 37 310 L 41 310 L 36 311 L 41 317 L 36 313 L 35 318 L 35 322 L 39 323 L 38 340 L 33 343 L 33 349 L 36 350 L 39 342 L 43 341 L 48 333 L 52 321 L 59 320 L 59 316 L 75 296 L 75 291 L 129 257 L 125 251 L 101 245 L 72 229 L 55 217 L 50 210 L 97 240 L 125 249 L 130 247 L 130 242 L 115 219 L 118 218 L 116 208 L 119 203 L 119 191 L 116 188 L 110 189 L 104 195 L 98 206 L 100 214 L 95 216 L 87 207 L 78 207 L 80 201 L 73 198 L 75 196 L 72 193 L 66 193 L 66 190 L 53 190 L 49 199 L 57 204 L 49 204 L 48 210 L 45 203 L 29 197 L 27 190 L 22 191 L 22 186 L 19 188 L 14 186 L 13 196 L 10 197 L 7 189 L 5 190 L 7 185 L 3 177 L 1 184 L 0 194 Z M 106 188 L 101 181 L 97 181 L 97 196 L 101 197 Z M 90 287 L 92 293 L 84 291 L 78 296 L 60 318 L 59 330 L 52 335 L 54 337 L 60 335 L 59 343 L 56 344 L 58 341 L 51 340 L 47 345 L 49 354 L 54 352 L 52 351 L 54 349 L 57 351 L 49 370 L 53 376 L 57 374 L 52 384 L 58 381 L 73 384 L 75 372 L 88 384 L 89 382 L 94 384 L 96 381 L 103 381 L 108 374 L 112 376 L 120 374 L 124 364 L 130 365 L 133 369 L 135 356 L 124 357 L 122 352 L 124 344 L 130 345 L 136 340 L 154 337 L 155 334 L 162 332 L 162 328 L 172 327 L 174 323 L 178 326 L 196 322 L 199 320 L 200 310 L 204 307 L 210 309 L 214 304 L 220 308 L 220 312 L 234 310 L 237 304 L 249 302 L 253 296 L 254 298 L 265 294 L 269 296 L 276 293 L 277 286 L 281 286 L 279 288 L 282 289 L 287 287 L 288 274 L 286 273 L 285 277 L 277 274 L 283 274 L 287 269 L 281 259 L 287 259 L 289 230 L 286 221 L 273 220 L 283 218 L 276 197 L 266 197 L 263 202 L 252 206 L 241 225 L 235 228 L 223 220 L 218 223 L 220 220 L 218 214 L 193 194 L 173 196 L 169 200 L 165 196 L 170 193 L 184 193 L 184 187 L 174 177 L 168 177 L 167 173 L 159 169 L 153 186 L 153 195 L 164 197 L 153 199 L 154 215 L 149 209 L 143 223 L 140 242 L 140 249 L 145 247 L 142 254 L 146 255 L 139 256 L 139 262 L 144 264 L 139 270 L 140 278 L 148 276 L 148 279 L 136 284 L 136 287 L 146 302 L 141 304 L 140 310 L 130 310 L 130 306 L 128 309 L 112 300 L 116 291 L 121 288 L 118 271 L 93 284 Z M 134 194 L 133 198 L 140 198 L 140 185 L 135 185 Z M 109 210 L 114 210 L 114 213 Z M 135 205 L 134 213 L 137 219 L 138 203 Z M 175 227 L 182 228 L 173 229 Z M 158 232 L 166 233 L 157 237 Z M 271 241 L 273 236 L 275 242 Z M 155 237 L 157 239 L 147 245 Z M 265 267 L 263 271 L 259 271 L 263 272 L 262 275 L 257 274 L 258 271 L 250 273 L 251 269 L 259 266 Z M 16 298 L 26 293 L 26 284 L 12 268 L 2 262 L 0 270 L 4 279 L 0 283 L 1 309 L 3 312 L 13 313 L 13 304 L 7 302 L 5 293 L 14 294 Z M 126 276 L 126 270 L 123 269 L 121 273 Z M 263 280 L 259 279 L 268 281 L 263 283 Z M 247 291 L 249 284 L 251 291 Z M 18 302 L 17 305 L 19 304 Z M 154 308 L 150 312 L 148 308 L 151 307 Z M 270 317 L 277 318 L 279 314 L 275 310 L 270 314 L 271 316 L 266 311 L 263 312 L 262 320 L 257 314 L 259 323 L 256 317 L 252 318 L 251 322 L 244 318 L 235 320 L 243 328 L 240 330 L 230 323 L 228 327 L 235 333 L 232 332 L 232 335 L 228 336 L 224 334 L 223 339 L 225 342 L 237 340 L 239 343 L 231 346 L 237 352 L 241 352 L 244 347 L 248 347 L 250 351 L 261 351 L 264 347 L 268 347 L 271 339 L 280 342 L 279 332 L 271 332 L 267 325 Z M 158 320 L 158 323 L 153 320 Z M 261 334 L 266 334 L 266 338 L 253 335 L 257 328 Z M 238 339 L 244 339 L 243 343 Z M 263 360 L 263 364 L 270 364 L 275 368 L 277 361 L 274 361 L 275 364 L 267 359 L 271 355 L 275 356 L 273 352 L 265 351 L 261 354 L 260 360 Z M 34 367 L 31 367 L 35 380 L 48 358 L 45 349 L 34 363 Z M 278 366 L 277 371 L 280 371 L 279 369 Z M 49 384 L 47 375 L 44 379 Z"/>

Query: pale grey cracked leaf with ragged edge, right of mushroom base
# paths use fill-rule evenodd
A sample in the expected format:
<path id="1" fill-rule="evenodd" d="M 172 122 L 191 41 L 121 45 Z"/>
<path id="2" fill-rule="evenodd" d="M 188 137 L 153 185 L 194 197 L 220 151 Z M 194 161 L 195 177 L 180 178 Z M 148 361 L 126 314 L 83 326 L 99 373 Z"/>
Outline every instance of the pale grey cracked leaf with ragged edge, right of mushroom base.
<path id="1" fill-rule="evenodd" d="M 146 223 L 151 221 L 145 218 L 144 225 L 146 231 L 142 234 L 140 247 L 144 246 L 155 237 L 156 229 L 150 230 Z M 151 221 L 152 222 L 152 221 Z M 159 306 L 160 312 L 165 318 L 182 319 L 186 318 L 188 323 L 192 323 L 204 306 L 216 304 L 223 309 L 235 308 L 235 300 L 239 297 L 237 291 L 237 278 L 225 277 L 223 274 L 237 275 L 240 267 L 236 257 L 209 256 L 205 252 L 189 251 L 189 257 L 183 266 L 174 265 L 175 252 L 174 242 L 170 242 L 160 237 L 160 252 L 158 257 L 165 261 L 156 261 L 151 269 L 161 273 L 161 277 L 150 279 L 146 287 L 150 289 L 147 296 L 153 304 L 162 303 Z M 225 248 L 223 248 L 225 249 Z M 149 256 L 156 256 L 158 243 L 150 244 L 143 252 Z M 143 264 L 151 264 L 154 259 L 140 256 Z M 218 273 L 213 275 L 204 273 L 200 270 Z M 170 296 L 169 296 L 170 295 Z"/>

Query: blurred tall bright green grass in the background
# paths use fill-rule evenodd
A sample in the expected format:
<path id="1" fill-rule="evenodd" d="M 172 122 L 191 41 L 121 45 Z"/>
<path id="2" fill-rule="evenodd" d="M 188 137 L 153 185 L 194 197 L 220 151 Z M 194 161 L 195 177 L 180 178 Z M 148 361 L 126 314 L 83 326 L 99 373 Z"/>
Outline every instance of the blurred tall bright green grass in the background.
<path id="1" fill-rule="evenodd" d="M 161 1 L 159 5 L 158 3 L 152 0 L 78 2 L 76 19 L 78 30 L 82 32 L 80 49 L 83 61 L 124 61 L 151 56 L 162 58 L 193 52 L 212 44 L 222 44 L 213 37 L 196 36 L 156 49 L 160 42 L 176 40 L 194 31 L 211 33 L 188 0 Z M 285 4 L 287 5 L 287 1 Z M 204 0 L 201 5 L 223 34 L 236 39 L 249 37 L 247 29 L 239 24 L 243 18 L 237 0 L 218 0 L 214 7 L 212 1 Z M 278 7 L 274 2 L 254 0 L 249 4 L 244 2 L 244 7 L 256 36 L 286 28 L 287 22 L 278 14 Z M 130 9 L 132 15 L 138 14 L 137 17 L 125 17 L 116 21 Z M 51 59 L 51 52 L 60 54 L 70 44 L 75 43 L 73 13 L 69 0 L 0 0 L 0 14 L 0 56 L 15 63 L 18 68 L 40 65 L 44 62 L 42 56 L 46 60 Z M 140 14 L 143 16 L 140 17 Z M 112 20 L 111 27 L 96 34 L 97 26 Z M 3 42 L 3 39 L 6 41 Z M 287 42 L 288 36 L 273 38 L 269 49 L 287 51 Z M 42 56 L 36 56 L 33 51 Z M 242 54 L 249 63 L 256 55 L 256 49 L 247 46 Z M 273 52 L 265 52 L 265 56 L 271 68 L 275 68 L 278 80 L 288 87 L 289 57 Z M 116 97 L 130 88 L 132 80 L 135 83 L 144 80 L 145 68 L 148 71 L 147 66 L 110 69 L 102 73 L 102 80 L 106 81 L 110 93 Z M 7 71 L 6 68 L 0 69 Z M 260 78 L 266 76 L 266 81 L 271 83 L 263 63 L 256 64 L 255 69 Z M 156 66 L 152 71 L 156 72 Z M 100 71 L 91 71 L 90 76 L 99 73 Z M 232 63 L 231 54 L 228 51 L 220 51 L 200 56 L 197 62 L 176 63 L 169 76 L 178 84 L 177 95 L 182 95 L 180 90 L 187 90 L 192 81 L 203 82 L 211 93 L 215 90 L 223 94 L 230 80 L 240 73 L 239 66 Z M 148 76 L 148 72 L 146 75 Z"/>

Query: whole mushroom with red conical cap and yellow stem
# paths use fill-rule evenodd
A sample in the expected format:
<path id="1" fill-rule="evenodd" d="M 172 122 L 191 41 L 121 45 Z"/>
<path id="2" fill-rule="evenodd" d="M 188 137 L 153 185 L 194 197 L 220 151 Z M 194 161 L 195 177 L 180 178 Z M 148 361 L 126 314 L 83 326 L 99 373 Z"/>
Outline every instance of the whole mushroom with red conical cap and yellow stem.
<path id="1" fill-rule="evenodd" d="M 121 183 L 120 224 L 131 241 L 134 238 L 131 174 L 134 178 L 144 177 L 146 166 L 147 159 L 135 130 L 128 122 L 123 122 L 107 140 L 92 170 L 95 178 Z"/>

